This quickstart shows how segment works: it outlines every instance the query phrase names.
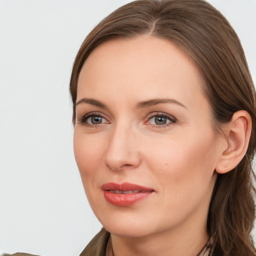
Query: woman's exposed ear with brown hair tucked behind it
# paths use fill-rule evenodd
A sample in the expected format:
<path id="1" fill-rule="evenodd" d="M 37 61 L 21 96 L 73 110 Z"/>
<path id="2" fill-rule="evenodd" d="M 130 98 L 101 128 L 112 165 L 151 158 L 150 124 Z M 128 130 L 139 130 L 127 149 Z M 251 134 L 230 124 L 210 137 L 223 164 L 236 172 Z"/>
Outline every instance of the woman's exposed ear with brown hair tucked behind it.
<path id="1" fill-rule="evenodd" d="M 232 170 L 243 158 L 249 144 L 251 117 L 245 110 L 235 112 L 223 128 L 225 143 L 215 170 L 226 173 Z"/>

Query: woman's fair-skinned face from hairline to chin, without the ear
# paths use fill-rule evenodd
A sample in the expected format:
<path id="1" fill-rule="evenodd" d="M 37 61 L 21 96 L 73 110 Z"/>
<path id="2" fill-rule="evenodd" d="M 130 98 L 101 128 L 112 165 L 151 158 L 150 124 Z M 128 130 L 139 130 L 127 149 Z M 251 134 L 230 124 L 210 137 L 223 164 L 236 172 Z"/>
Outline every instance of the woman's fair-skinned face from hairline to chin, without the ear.
<path id="1" fill-rule="evenodd" d="M 111 233 L 205 229 L 221 152 L 200 82 L 181 50 L 152 36 L 105 42 L 85 61 L 74 154 Z"/>

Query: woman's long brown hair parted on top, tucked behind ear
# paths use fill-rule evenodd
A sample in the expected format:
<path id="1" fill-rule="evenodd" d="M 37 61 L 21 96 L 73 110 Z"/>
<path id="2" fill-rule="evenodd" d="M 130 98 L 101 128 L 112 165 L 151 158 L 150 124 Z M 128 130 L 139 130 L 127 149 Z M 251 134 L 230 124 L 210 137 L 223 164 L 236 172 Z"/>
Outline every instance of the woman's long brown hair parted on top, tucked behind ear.
<path id="1" fill-rule="evenodd" d="M 70 92 L 73 123 L 77 79 L 90 52 L 114 38 L 151 34 L 170 40 L 197 66 L 211 106 L 213 127 L 246 110 L 252 119 L 247 152 L 240 163 L 218 174 L 207 218 L 207 232 L 214 237 L 215 256 L 256 255 L 253 227 L 255 188 L 251 163 L 255 151 L 255 91 L 240 41 L 223 15 L 205 0 L 137 0 L 104 18 L 85 38 L 73 64 Z"/>

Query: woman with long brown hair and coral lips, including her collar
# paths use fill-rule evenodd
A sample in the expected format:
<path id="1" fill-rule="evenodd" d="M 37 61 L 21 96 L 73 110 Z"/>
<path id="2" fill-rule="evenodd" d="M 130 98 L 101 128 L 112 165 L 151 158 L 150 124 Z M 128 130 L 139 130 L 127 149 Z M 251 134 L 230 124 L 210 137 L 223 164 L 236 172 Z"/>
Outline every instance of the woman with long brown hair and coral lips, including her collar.
<path id="1" fill-rule="evenodd" d="M 204 0 L 138 0 L 73 64 L 74 154 L 103 229 L 80 255 L 255 255 L 255 92 Z"/>

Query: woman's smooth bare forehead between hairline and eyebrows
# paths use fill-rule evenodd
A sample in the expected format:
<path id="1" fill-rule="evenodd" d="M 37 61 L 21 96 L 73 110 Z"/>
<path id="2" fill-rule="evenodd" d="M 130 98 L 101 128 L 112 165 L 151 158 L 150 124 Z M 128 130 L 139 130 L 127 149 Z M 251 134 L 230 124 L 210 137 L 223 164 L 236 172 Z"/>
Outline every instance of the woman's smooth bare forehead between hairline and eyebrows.
<path id="1" fill-rule="evenodd" d="M 168 40 L 150 35 L 115 39 L 96 47 L 78 78 L 81 97 L 145 98 L 167 96 L 182 101 L 202 96 L 197 68 L 187 55 Z"/>

